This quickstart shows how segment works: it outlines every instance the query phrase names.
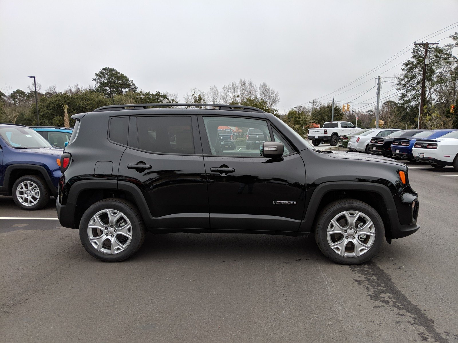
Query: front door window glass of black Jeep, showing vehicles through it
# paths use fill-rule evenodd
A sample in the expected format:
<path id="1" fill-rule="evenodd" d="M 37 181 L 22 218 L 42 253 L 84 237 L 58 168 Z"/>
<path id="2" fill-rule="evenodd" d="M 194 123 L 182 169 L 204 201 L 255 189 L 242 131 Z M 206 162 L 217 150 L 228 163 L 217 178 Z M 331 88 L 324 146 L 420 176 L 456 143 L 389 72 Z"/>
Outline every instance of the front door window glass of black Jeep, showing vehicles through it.
<path id="1" fill-rule="evenodd" d="M 260 156 L 262 143 L 270 141 L 269 129 L 265 120 L 231 117 L 204 117 L 205 130 L 207 131 L 208 144 L 212 155 L 230 155 L 239 157 Z M 218 127 L 227 126 L 240 130 L 244 135 L 232 145 L 224 145 L 218 135 Z"/>

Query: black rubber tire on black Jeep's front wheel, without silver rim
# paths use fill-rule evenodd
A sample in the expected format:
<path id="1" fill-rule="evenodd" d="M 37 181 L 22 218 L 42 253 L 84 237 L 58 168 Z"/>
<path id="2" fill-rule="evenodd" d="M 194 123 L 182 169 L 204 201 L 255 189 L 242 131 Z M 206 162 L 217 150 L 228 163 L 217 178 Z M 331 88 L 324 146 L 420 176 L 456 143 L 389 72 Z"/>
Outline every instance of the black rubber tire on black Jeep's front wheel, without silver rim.
<path id="1" fill-rule="evenodd" d="M 327 233 L 328 233 L 328 226 L 330 226 L 331 221 L 333 218 L 340 213 L 343 213 L 344 211 L 359 211 L 361 212 L 364 216 L 366 216 L 369 220 L 372 221 L 373 227 L 372 229 L 375 231 L 375 238 L 372 239 L 371 245 L 368 248 L 367 251 L 363 252 L 359 256 L 355 257 L 346 257 L 342 256 L 335 250 L 333 250 L 330 246 L 330 243 L 328 242 L 327 239 Z M 360 219 L 362 217 L 358 217 L 357 219 Z M 339 219 L 339 218 L 337 218 Z M 347 225 L 348 227 L 349 225 Z M 348 235 L 354 236 L 355 240 L 358 240 L 360 237 L 360 234 L 356 236 L 354 234 L 354 230 L 349 230 Z M 346 236 L 349 237 L 349 236 Z M 340 263 L 340 264 L 361 264 L 369 261 L 372 257 L 376 255 L 377 252 L 379 252 L 380 247 L 382 247 L 382 242 L 383 239 L 385 238 L 385 227 L 383 225 L 382 218 L 380 218 L 380 215 L 377 213 L 375 209 L 373 209 L 371 206 L 369 206 L 366 203 L 363 203 L 360 200 L 355 200 L 355 199 L 341 199 L 341 200 L 336 200 L 330 204 L 328 204 L 324 209 L 322 209 L 321 213 L 318 215 L 316 219 L 316 224 L 315 224 L 315 240 L 316 244 L 327 258 L 333 260 L 334 262 Z M 345 236 L 342 236 L 342 240 L 346 240 Z M 366 243 L 369 243 L 371 238 L 364 238 Z M 351 245 L 348 244 L 351 242 Z M 344 253 L 346 252 L 347 248 L 350 248 L 353 246 L 354 252 L 356 251 L 354 243 L 351 239 L 347 241 L 345 244 L 345 250 Z M 351 253 L 348 252 L 348 253 Z"/>

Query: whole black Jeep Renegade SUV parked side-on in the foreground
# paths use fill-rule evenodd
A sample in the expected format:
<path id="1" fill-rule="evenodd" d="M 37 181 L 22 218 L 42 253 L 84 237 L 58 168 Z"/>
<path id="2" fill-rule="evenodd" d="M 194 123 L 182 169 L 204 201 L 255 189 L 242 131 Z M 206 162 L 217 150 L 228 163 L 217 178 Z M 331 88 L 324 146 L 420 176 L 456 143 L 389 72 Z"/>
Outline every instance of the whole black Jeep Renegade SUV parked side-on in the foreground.
<path id="1" fill-rule="evenodd" d="M 213 108 L 189 108 L 196 106 Z M 115 105 L 71 118 L 57 213 L 103 261 L 130 257 L 149 230 L 313 232 L 324 255 L 359 264 L 383 238 L 391 243 L 419 229 L 407 166 L 315 150 L 255 107 Z M 266 139 L 260 150 L 224 150 L 221 126 L 257 129 Z"/>

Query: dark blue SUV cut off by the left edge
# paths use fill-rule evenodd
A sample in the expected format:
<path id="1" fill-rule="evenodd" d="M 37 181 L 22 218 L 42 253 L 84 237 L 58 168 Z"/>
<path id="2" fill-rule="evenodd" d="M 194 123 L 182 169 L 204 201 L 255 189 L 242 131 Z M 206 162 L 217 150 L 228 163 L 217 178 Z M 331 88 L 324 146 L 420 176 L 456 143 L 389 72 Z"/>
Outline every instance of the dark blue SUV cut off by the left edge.
<path id="1" fill-rule="evenodd" d="M 0 195 L 22 209 L 43 208 L 57 195 L 61 154 L 33 129 L 0 123 Z"/>

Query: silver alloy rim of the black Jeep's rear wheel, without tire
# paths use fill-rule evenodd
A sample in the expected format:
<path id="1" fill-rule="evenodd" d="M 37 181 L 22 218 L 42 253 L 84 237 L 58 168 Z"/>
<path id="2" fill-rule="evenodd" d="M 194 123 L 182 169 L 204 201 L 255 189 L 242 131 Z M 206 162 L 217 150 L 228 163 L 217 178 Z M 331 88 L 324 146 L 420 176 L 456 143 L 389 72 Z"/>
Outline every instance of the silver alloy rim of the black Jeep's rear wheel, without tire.
<path id="1" fill-rule="evenodd" d="M 132 224 L 122 212 L 103 209 L 89 220 L 87 236 L 96 250 L 114 255 L 124 251 L 131 243 Z"/>

